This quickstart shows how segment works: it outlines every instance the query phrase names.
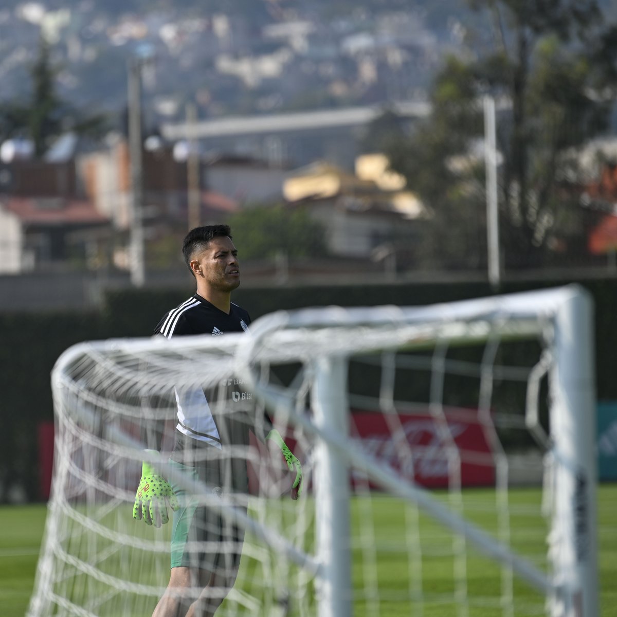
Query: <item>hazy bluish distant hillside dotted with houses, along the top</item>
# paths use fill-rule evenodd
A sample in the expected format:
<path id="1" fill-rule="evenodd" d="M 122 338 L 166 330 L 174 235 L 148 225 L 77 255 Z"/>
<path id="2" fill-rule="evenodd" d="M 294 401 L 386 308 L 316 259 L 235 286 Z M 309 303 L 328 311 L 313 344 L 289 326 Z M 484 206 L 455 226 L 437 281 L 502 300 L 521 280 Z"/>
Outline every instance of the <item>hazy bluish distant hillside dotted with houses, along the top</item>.
<path id="1" fill-rule="evenodd" d="M 0 9 L 0 101 L 23 93 L 41 33 L 64 67 L 61 94 L 76 106 L 117 109 L 126 56 L 146 48 L 156 57 L 146 88 L 158 120 L 180 120 L 189 94 L 211 118 L 418 99 L 442 54 L 460 45 L 469 12 L 459 4 L 402 11 L 369 2 L 349 12 L 319 1 L 230 1 L 223 12 L 131 0 L 17 2 Z"/>

